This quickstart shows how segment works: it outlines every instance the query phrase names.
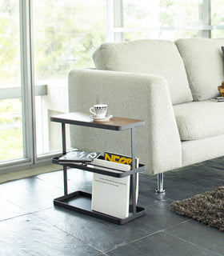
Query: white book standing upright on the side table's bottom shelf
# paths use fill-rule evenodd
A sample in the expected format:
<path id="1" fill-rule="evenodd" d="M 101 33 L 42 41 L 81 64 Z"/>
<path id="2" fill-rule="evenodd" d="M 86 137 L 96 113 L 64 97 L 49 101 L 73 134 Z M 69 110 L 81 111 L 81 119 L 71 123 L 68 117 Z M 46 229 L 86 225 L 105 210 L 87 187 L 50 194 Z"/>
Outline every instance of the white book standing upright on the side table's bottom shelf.
<path id="1" fill-rule="evenodd" d="M 130 166 L 118 162 L 94 159 L 95 168 L 106 170 L 103 166 L 129 171 Z M 102 167 L 98 167 L 102 166 Z M 118 172 L 116 170 L 110 170 Z M 103 174 L 93 175 L 91 209 L 117 218 L 129 215 L 130 176 L 115 178 Z"/>

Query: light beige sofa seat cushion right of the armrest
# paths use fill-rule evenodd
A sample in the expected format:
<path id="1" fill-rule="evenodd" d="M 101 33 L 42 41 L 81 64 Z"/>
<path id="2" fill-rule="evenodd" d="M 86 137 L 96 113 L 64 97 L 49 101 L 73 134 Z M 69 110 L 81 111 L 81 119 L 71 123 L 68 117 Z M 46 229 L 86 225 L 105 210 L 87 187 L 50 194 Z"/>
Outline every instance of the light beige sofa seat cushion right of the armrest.
<path id="1" fill-rule="evenodd" d="M 174 106 L 182 141 L 224 134 L 224 102 L 189 102 Z"/>

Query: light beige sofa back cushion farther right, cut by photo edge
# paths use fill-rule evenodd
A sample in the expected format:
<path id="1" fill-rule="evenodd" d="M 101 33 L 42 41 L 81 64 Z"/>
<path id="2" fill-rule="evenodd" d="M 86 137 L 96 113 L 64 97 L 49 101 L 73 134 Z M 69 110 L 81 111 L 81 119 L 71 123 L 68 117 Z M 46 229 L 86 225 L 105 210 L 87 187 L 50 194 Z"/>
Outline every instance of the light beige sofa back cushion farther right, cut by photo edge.
<path id="1" fill-rule="evenodd" d="M 224 81 L 224 39 L 187 38 L 175 43 L 186 67 L 194 101 L 217 97 L 218 86 Z"/>

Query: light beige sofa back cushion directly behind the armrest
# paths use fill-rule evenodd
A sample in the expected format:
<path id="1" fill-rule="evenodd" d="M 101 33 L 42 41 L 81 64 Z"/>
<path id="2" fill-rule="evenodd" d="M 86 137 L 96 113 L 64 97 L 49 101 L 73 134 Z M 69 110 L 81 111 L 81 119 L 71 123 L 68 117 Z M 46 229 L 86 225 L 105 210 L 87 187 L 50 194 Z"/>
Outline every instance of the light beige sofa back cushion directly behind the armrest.
<path id="1" fill-rule="evenodd" d="M 98 70 L 156 74 L 166 78 L 173 104 L 193 100 L 186 70 L 174 42 L 148 39 L 104 43 L 95 50 L 93 58 Z"/>

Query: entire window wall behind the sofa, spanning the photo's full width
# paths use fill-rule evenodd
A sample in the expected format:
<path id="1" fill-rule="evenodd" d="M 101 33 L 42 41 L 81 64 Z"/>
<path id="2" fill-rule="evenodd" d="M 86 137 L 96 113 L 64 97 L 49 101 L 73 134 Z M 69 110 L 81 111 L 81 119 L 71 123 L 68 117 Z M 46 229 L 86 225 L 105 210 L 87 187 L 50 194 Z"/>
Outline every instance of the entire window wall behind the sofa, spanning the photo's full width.
<path id="1" fill-rule="evenodd" d="M 224 0 L 0 0 L 0 172 L 61 151 L 50 116 L 69 111 L 68 73 L 94 67 L 102 42 L 221 38 L 223 12 Z"/>

